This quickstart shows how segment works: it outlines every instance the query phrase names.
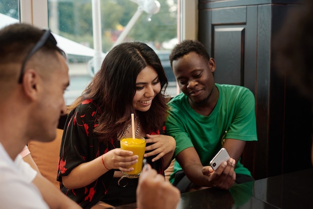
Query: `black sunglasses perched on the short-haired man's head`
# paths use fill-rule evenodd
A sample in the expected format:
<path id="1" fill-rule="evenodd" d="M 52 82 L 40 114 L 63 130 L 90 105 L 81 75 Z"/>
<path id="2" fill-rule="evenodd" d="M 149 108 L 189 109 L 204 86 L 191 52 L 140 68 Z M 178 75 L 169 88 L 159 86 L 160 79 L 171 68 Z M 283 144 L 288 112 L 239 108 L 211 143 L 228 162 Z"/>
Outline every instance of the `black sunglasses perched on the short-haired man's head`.
<path id="1" fill-rule="evenodd" d="M 25 64 L 26 62 L 29 60 L 29 58 L 37 51 L 39 50 L 39 48 L 41 48 L 45 42 L 49 41 L 51 42 L 53 45 L 56 45 L 56 40 L 54 38 L 54 36 L 52 35 L 51 31 L 48 30 L 43 30 L 44 33 L 43 35 L 40 37 L 40 39 L 36 42 L 36 44 L 33 46 L 33 48 L 29 51 L 29 53 L 27 54 L 26 58 L 24 59 L 22 65 L 21 65 L 21 69 L 20 69 L 20 74 L 19 74 L 19 78 L 18 78 L 18 83 L 21 83 L 22 81 L 22 77 L 25 71 Z"/>

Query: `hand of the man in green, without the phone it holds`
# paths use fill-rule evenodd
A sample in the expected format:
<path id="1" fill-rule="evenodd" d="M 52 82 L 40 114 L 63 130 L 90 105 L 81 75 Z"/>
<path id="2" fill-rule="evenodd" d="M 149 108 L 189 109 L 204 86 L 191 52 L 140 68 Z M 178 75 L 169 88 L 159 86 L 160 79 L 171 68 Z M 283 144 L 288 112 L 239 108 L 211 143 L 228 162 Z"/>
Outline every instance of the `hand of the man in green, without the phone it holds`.
<path id="1" fill-rule="evenodd" d="M 229 158 L 227 162 L 222 162 L 215 171 L 211 166 L 203 166 L 202 174 L 208 176 L 208 182 L 212 186 L 229 189 L 236 179 L 234 166 L 235 160 Z"/>

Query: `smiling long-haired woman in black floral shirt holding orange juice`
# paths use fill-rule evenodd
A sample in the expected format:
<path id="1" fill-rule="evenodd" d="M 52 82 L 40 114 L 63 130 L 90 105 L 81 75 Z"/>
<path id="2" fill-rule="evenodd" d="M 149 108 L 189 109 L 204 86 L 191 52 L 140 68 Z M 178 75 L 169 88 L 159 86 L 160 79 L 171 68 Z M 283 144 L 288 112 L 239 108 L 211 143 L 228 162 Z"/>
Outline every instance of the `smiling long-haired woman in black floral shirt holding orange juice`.
<path id="1" fill-rule="evenodd" d="M 119 138 L 146 138 L 144 157 L 160 174 L 170 164 L 175 140 L 163 135 L 169 97 L 167 78 L 157 54 L 141 42 L 125 42 L 105 56 L 93 80 L 68 108 L 57 179 L 61 190 L 84 208 L 98 201 L 111 205 L 135 202 L 137 178 L 118 186 L 121 171 L 137 155 L 119 148 Z"/>

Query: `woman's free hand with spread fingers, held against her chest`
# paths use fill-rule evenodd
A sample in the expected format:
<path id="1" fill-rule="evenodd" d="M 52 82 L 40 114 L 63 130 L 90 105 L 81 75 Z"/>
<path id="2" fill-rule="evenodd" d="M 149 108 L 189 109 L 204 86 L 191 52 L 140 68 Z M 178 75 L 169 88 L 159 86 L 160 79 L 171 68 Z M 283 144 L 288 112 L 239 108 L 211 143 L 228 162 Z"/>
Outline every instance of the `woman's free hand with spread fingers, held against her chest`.
<path id="1" fill-rule="evenodd" d="M 152 150 L 148 153 L 144 154 L 144 157 L 152 156 L 157 154 L 156 157 L 152 159 L 152 162 L 155 160 L 158 160 L 165 154 L 171 152 L 173 153 L 176 147 L 176 141 L 172 136 L 169 135 L 162 135 L 162 134 L 155 134 L 155 135 L 150 135 L 146 134 L 148 137 L 146 139 L 146 143 L 153 143 L 149 146 L 145 147 L 146 151 Z"/>

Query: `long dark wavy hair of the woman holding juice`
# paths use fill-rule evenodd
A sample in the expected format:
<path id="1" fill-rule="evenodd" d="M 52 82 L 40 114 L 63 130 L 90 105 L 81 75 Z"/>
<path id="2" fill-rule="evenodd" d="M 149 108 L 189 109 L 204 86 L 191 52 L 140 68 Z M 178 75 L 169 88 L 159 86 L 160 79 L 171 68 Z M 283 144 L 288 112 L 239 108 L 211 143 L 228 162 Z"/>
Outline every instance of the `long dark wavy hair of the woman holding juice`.
<path id="1" fill-rule="evenodd" d="M 160 129 L 168 109 L 168 96 L 164 94 L 167 78 L 157 54 L 142 42 L 125 42 L 113 47 L 105 56 L 101 69 L 68 111 L 87 98 L 93 99 L 101 110 L 97 112 L 99 118 L 93 130 L 95 135 L 101 141 L 115 140 L 135 111 L 132 98 L 136 92 L 136 78 L 147 65 L 156 71 L 162 90 L 153 98 L 149 110 L 137 111 L 136 114 L 145 132 Z"/>

